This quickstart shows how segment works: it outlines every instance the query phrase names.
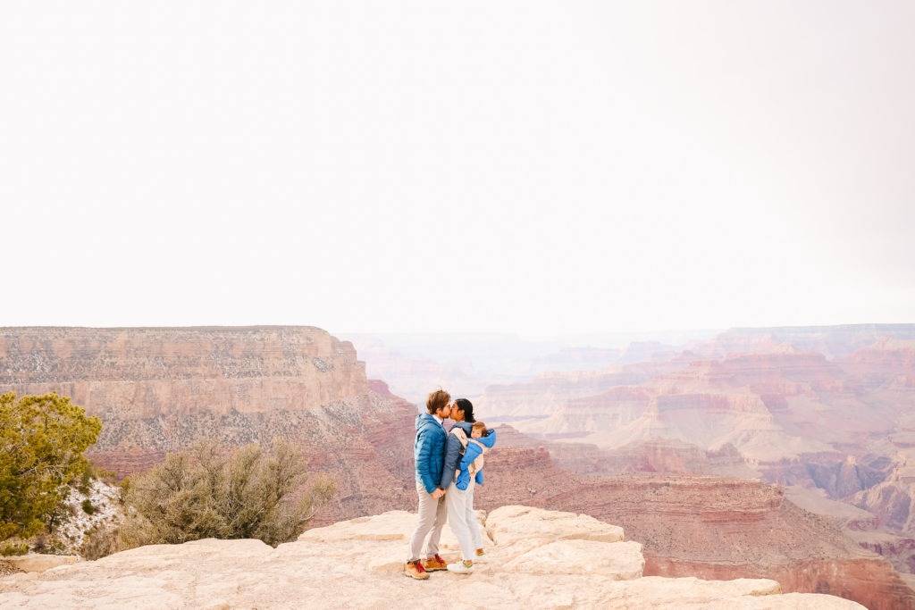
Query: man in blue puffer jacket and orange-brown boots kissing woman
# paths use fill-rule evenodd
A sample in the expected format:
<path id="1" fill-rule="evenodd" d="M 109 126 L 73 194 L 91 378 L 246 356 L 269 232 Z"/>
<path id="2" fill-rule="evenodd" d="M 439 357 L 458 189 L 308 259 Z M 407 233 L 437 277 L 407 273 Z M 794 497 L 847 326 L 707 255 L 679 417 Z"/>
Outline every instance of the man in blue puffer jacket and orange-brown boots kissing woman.
<path id="1" fill-rule="evenodd" d="M 451 412 L 451 395 L 436 390 L 425 400 L 427 412 L 416 415 L 416 439 L 413 457 L 416 465 L 416 494 L 419 496 L 419 523 L 410 539 L 410 551 L 404 573 L 417 580 L 425 580 L 430 572 L 447 570 L 447 563 L 438 555 L 438 540 L 447 519 L 445 489 L 440 486 L 442 465 L 445 462 L 444 421 Z M 431 532 L 431 534 L 429 533 Z M 425 561 L 420 561 L 424 551 Z"/>

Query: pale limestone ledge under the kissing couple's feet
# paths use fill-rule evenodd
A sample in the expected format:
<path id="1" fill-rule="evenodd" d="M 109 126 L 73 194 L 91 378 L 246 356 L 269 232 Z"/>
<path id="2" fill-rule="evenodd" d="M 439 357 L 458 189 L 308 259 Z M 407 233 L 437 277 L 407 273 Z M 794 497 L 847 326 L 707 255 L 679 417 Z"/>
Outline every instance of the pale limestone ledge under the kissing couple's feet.
<path id="1" fill-rule="evenodd" d="M 426 582 L 404 578 L 407 539 L 416 516 L 392 511 L 311 530 L 276 549 L 260 540 L 198 540 L 124 551 L 45 573 L 11 574 L 0 578 L 0 608 L 863 607 L 830 595 L 780 594 L 778 583 L 770 580 L 640 577 L 640 545 L 618 541 L 619 528 L 602 530 L 598 524 L 606 524 L 585 515 L 505 507 L 480 516 L 488 530 L 513 542 L 488 542 L 492 561 L 478 564 L 469 576 L 439 572 Z M 525 530 L 535 537 L 518 538 Z M 614 532 L 617 541 L 599 540 L 614 539 Z M 443 541 L 453 540 L 447 538 L 449 528 L 444 534 Z M 448 561 L 458 559 L 457 551 L 443 555 Z M 571 569 L 576 566 L 578 570 Z"/>

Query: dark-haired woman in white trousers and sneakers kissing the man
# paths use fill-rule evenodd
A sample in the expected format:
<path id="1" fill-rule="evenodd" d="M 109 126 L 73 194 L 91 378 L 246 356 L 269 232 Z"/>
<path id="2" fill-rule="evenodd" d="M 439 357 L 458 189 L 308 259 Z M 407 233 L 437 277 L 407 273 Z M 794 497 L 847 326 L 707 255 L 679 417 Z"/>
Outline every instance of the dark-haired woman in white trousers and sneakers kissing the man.
<path id="1" fill-rule="evenodd" d="M 458 488 L 455 475 L 458 471 L 460 456 L 464 448 L 461 439 L 458 437 L 458 430 L 464 433 L 466 438 L 470 438 L 473 430 L 473 404 L 466 398 L 459 398 L 451 407 L 451 419 L 455 424 L 448 433 L 445 442 L 445 466 L 442 469 L 442 480 L 439 487 L 446 489 L 445 505 L 448 513 L 448 523 L 451 530 L 455 532 L 458 538 L 461 552 L 461 562 L 448 563 L 447 569 L 450 572 L 469 574 L 473 573 L 473 562 L 485 557 L 483 551 L 483 536 L 479 531 L 479 522 L 477 515 L 473 510 L 473 490 L 476 483 L 473 478 L 470 479 L 467 489 Z M 484 439 L 480 439 L 484 440 Z M 485 437 L 487 446 L 491 447 L 496 442 L 496 431 L 491 430 Z"/>

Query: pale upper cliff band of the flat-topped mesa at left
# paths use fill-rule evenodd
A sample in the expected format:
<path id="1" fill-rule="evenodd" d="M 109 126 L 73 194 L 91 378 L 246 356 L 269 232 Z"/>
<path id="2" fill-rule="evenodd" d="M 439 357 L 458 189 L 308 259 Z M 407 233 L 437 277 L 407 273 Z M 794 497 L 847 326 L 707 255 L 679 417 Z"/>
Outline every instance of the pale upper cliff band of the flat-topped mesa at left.
<path id="1" fill-rule="evenodd" d="M 296 410 L 365 393 L 350 343 L 307 326 L 0 328 L 0 386 L 93 414 Z"/>

